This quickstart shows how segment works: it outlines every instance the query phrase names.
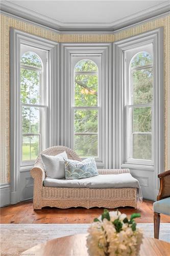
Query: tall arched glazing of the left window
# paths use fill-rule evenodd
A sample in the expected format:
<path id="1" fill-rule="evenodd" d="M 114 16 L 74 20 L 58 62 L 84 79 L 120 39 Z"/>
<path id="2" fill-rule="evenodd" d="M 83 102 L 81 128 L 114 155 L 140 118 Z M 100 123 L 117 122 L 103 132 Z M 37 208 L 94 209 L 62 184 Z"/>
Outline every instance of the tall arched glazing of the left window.
<path id="1" fill-rule="evenodd" d="M 42 149 L 43 84 L 41 58 L 33 51 L 23 52 L 20 58 L 21 162 L 35 160 Z"/>

